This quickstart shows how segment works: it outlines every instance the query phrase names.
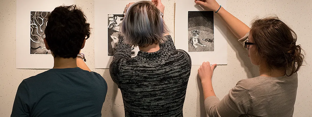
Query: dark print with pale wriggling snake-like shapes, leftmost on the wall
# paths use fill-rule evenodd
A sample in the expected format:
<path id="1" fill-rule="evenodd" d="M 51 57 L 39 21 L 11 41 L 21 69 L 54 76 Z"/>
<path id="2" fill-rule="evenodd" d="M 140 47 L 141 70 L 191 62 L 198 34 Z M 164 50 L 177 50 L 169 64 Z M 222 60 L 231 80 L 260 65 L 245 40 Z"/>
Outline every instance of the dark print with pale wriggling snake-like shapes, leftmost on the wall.
<path id="1" fill-rule="evenodd" d="M 51 54 L 43 41 L 45 38 L 44 29 L 50 14 L 51 12 L 30 12 L 30 54 Z"/>

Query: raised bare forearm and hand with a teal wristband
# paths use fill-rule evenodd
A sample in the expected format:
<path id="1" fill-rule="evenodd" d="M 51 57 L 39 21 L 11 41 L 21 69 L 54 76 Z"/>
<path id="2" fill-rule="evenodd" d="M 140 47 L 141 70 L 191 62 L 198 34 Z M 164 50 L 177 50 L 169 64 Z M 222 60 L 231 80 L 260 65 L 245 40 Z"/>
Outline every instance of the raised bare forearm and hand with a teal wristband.
<path id="1" fill-rule="evenodd" d="M 220 8 L 220 5 L 216 0 L 206 0 L 206 2 L 202 1 L 195 0 L 195 3 L 200 5 L 206 10 L 212 10 L 214 12 L 217 12 L 218 9 Z M 220 8 L 217 14 L 225 21 L 227 27 L 238 39 L 244 37 L 246 33 L 249 32 L 250 28 L 246 24 L 241 22 L 231 13 L 227 12 L 227 10 L 225 10 L 223 7 Z"/>

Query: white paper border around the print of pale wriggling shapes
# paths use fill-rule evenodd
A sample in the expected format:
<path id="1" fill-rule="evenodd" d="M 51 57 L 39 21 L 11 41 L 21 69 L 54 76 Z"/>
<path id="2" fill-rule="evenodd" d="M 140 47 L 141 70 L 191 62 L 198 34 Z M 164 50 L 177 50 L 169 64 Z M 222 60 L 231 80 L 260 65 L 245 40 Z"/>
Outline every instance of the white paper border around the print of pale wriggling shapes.
<path id="1" fill-rule="evenodd" d="M 51 54 L 30 54 L 30 12 L 53 11 L 55 7 L 74 4 L 74 0 L 17 0 L 16 1 L 16 68 L 50 69 Z"/>

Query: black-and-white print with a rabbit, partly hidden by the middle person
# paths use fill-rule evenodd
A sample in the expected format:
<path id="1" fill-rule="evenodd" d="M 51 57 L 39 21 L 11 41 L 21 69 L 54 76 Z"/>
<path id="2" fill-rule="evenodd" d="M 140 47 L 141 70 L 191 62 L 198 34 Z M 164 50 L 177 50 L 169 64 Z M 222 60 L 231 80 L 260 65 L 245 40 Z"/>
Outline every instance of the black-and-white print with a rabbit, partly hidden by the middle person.
<path id="1" fill-rule="evenodd" d="M 120 24 L 124 19 L 122 14 L 108 14 L 108 56 L 114 56 L 120 34 Z M 131 48 L 131 54 L 134 55 L 134 47 Z"/>

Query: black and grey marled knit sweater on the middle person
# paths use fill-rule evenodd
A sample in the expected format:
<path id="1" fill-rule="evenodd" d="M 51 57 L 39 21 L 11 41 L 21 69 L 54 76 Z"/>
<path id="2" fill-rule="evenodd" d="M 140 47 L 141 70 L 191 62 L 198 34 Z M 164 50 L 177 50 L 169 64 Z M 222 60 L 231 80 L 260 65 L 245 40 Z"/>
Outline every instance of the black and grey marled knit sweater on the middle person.
<path id="1" fill-rule="evenodd" d="M 126 117 L 183 117 L 191 58 L 166 38 L 159 51 L 139 51 L 131 58 L 120 37 L 110 75 L 121 90 Z"/>

